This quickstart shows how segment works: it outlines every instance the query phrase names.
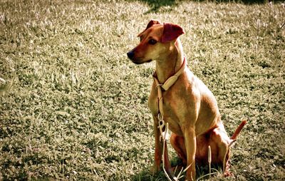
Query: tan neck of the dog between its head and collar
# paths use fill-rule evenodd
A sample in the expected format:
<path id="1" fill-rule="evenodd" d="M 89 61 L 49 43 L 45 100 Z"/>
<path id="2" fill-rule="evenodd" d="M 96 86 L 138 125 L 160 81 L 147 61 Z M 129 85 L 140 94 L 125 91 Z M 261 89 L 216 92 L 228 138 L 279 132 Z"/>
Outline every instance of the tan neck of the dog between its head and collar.
<path id="1" fill-rule="evenodd" d="M 180 39 L 177 38 L 174 45 L 170 47 L 170 54 L 163 60 L 155 61 L 155 71 L 158 81 L 164 83 L 167 78 L 173 76 L 182 66 L 183 60 L 182 44 Z"/>

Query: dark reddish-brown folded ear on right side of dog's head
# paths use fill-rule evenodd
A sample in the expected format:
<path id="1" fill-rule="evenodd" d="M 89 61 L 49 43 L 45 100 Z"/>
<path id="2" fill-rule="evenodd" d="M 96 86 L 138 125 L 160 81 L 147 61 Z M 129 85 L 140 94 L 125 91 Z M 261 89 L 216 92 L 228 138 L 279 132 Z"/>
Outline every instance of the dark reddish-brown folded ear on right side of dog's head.
<path id="1" fill-rule="evenodd" d="M 166 43 L 175 40 L 183 33 L 183 29 L 176 24 L 163 24 L 163 34 L 161 37 L 161 42 Z"/>

